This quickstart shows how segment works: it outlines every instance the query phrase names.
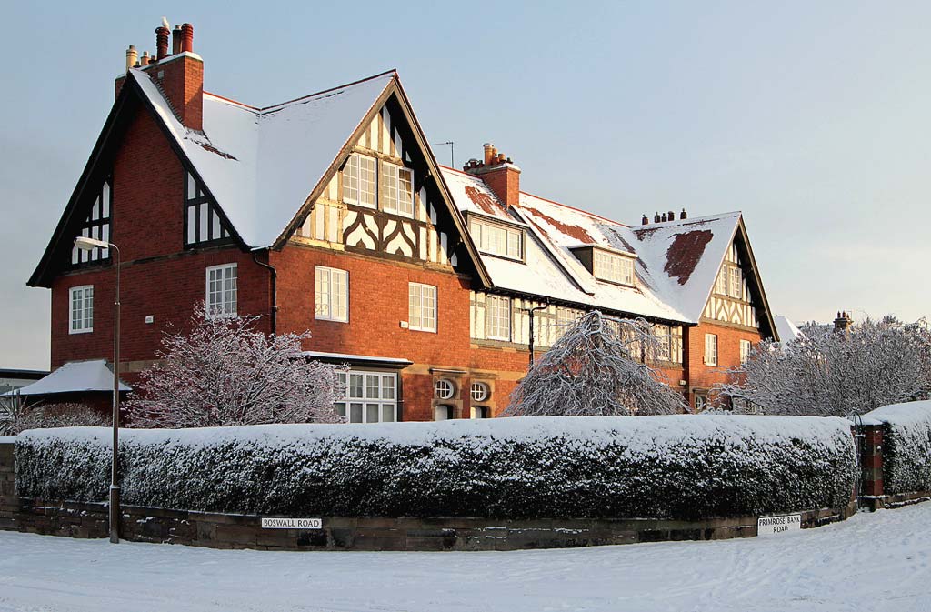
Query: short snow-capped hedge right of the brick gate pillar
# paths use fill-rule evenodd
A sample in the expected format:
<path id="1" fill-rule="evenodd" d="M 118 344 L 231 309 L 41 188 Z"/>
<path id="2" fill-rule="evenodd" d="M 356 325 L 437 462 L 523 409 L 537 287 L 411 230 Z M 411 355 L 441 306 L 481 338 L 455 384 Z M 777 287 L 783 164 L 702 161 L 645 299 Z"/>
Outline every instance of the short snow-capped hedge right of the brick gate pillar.
<path id="1" fill-rule="evenodd" d="M 863 420 L 884 425 L 884 493 L 931 491 L 931 401 L 883 406 Z"/>

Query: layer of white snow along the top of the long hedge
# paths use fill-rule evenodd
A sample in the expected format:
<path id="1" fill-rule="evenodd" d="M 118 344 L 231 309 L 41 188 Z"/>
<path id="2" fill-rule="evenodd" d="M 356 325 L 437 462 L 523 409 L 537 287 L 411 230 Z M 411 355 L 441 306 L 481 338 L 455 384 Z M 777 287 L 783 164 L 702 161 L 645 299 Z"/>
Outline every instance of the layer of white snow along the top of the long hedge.
<path id="1" fill-rule="evenodd" d="M 20 442 L 98 442 L 109 445 L 109 428 L 31 429 Z M 358 424 L 255 425 L 239 428 L 121 429 L 125 442 L 210 446 L 223 442 L 260 446 L 305 444 L 328 438 L 366 442 L 430 445 L 438 440 L 474 439 L 534 441 L 561 438 L 582 444 L 623 443 L 635 452 L 661 453 L 670 445 L 718 440 L 739 445 L 748 440 L 789 440 L 833 443 L 848 441 L 850 422 L 840 417 L 752 415 L 664 416 L 522 416 L 495 419 L 455 419 L 439 422 Z M 833 441 L 833 442 L 832 442 Z"/>

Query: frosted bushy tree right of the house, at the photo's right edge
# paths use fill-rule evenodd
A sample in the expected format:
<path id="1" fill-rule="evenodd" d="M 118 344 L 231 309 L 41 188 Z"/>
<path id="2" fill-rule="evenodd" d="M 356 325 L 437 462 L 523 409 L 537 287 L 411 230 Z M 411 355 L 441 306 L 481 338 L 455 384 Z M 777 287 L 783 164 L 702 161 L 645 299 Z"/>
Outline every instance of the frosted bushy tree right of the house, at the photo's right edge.
<path id="1" fill-rule="evenodd" d="M 804 326 L 780 347 L 762 342 L 720 389 L 736 412 L 862 415 L 931 397 L 931 333 L 924 320 L 864 320 L 849 333 Z"/>

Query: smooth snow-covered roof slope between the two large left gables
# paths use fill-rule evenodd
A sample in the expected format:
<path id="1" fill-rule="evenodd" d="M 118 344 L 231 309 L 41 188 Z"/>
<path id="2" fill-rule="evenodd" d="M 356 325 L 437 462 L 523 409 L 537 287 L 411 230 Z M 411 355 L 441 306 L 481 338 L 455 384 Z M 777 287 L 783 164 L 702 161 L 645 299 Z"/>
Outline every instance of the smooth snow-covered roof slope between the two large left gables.
<path id="1" fill-rule="evenodd" d="M 144 72 L 128 77 L 254 249 L 270 246 L 304 205 L 395 73 L 257 109 L 204 94 L 203 133 L 185 128 Z"/>

